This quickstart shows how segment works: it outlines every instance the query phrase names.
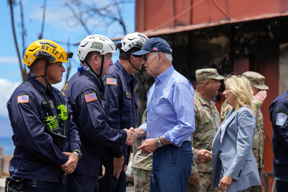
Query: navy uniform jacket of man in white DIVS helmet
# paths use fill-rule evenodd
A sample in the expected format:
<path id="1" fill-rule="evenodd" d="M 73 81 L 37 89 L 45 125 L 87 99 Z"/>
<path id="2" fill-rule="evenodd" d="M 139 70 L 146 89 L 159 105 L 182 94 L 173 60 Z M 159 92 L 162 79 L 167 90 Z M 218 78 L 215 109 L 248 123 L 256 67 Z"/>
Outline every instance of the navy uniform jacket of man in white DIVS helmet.
<path id="1" fill-rule="evenodd" d="M 73 111 L 73 121 L 82 142 L 82 157 L 74 173 L 92 177 L 97 177 L 101 168 L 103 147 L 123 145 L 127 138 L 126 131 L 111 129 L 107 125 L 100 87 L 99 79 L 83 69 L 74 74 L 61 90 Z"/>

